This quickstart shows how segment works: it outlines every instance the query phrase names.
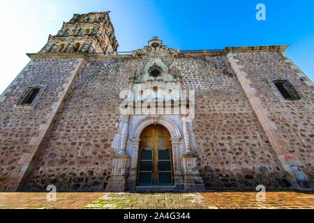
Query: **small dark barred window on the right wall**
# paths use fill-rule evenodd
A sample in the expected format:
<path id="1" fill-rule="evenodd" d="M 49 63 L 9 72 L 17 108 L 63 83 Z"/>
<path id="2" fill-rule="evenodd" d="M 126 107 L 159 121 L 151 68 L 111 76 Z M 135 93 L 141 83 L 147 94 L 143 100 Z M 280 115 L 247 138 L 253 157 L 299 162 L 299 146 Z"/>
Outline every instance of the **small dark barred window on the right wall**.
<path id="1" fill-rule="evenodd" d="M 275 79 L 272 81 L 274 86 L 284 100 L 299 100 L 301 96 L 294 89 L 294 86 L 287 79 Z"/>

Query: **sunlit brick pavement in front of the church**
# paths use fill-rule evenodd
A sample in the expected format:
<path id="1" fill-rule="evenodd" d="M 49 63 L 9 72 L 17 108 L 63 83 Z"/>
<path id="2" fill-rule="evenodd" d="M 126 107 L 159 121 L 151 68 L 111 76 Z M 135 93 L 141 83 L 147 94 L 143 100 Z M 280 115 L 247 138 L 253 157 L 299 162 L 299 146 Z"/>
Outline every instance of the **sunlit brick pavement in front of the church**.
<path id="1" fill-rule="evenodd" d="M 47 201 L 47 193 L 0 193 L 0 209 L 217 209 L 217 208 L 314 208 L 314 194 L 267 192 L 266 201 L 257 202 L 256 192 L 204 193 L 57 193 L 57 201 Z"/>

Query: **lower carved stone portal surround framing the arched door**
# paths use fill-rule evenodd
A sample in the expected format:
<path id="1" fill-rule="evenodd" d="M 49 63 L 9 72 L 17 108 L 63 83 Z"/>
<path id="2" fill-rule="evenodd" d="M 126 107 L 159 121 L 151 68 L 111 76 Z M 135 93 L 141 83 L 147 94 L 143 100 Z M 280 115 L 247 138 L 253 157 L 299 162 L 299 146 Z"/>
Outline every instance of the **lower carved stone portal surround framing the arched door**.
<path id="1" fill-rule="evenodd" d="M 204 190 L 204 183 L 197 169 L 197 153 L 195 153 L 194 146 L 191 147 L 193 153 L 186 153 L 186 140 L 183 137 L 184 126 L 180 119 L 180 116 L 130 116 L 126 145 L 127 155 L 114 156 L 113 171 L 107 191 L 136 190 L 141 134 L 150 125 L 162 125 L 170 132 L 174 174 L 172 190 Z M 193 135 L 193 132 L 189 132 L 189 128 L 186 128 L 185 132 L 190 136 Z M 156 190 L 158 190 L 157 187 Z"/>

